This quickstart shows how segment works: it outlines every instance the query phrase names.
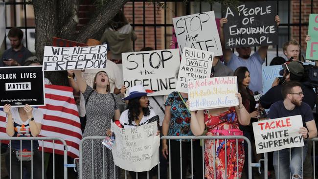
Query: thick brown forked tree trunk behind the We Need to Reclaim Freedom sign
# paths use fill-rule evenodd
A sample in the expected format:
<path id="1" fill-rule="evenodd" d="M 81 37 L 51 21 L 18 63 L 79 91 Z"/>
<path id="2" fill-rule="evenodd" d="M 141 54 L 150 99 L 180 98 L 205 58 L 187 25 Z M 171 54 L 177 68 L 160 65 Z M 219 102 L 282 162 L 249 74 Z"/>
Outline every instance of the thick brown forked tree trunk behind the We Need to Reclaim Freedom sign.
<path id="1" fill-rule="evenodd" d="M 91 21 L 76 33 L 77 7 L 80 0 L 32 0 L 35 16 L 35 50 L 43 61 L 44 46 L 52 45 L 54 36 L 86 43 L 99 40 L 109 22 L 128 0 L 108 0 L 96 7 Z M 67 71 L 48 71 L 45 77 L 53 85 L 68 85 Z"/>

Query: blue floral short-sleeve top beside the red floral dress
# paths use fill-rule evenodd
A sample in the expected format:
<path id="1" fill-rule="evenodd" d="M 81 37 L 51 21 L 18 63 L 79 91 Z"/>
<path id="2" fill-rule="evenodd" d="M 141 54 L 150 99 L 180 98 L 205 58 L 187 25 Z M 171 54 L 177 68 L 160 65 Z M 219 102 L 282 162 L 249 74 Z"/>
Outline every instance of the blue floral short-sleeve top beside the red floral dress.
<path id="1" fill-rule="evenodd" d="M 184 102 L 188 98 L 183 98 Z M 178 92 L 168 95 L 165 106 L 171 106 L 171 119 L 169 123 L 169 135 L 188 136 L 193 135 L 190 129 L 191 113 L 187 110 Z"/>

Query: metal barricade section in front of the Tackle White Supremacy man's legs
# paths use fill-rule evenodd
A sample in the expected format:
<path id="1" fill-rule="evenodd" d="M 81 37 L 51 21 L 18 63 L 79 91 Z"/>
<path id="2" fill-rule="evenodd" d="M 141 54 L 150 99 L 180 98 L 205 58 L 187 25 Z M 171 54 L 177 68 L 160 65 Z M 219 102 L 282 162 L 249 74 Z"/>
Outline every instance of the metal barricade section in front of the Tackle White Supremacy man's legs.
<path id="1" fill-rule="evenodd" d="M 311 164 L 313 164 L 313 173 L 312 173 L 312 177 L 313 177 L 313 179 L 316 179 L 316 151 L 315 151 L 315 141 L 318 141 L 318 137 L 316 137 L 316 138 L 312 138 L 312 139 L 305 139 L 305 141 L 308 141 L 308 143 L 309 142 L 313 142 L 313 145 L 312 146 L 309 146 L 309 148 L 307 149 L 307 151 L 310 151 L 309 153 L 308 152 L 306 152 L 306 155 L 310 155 L 310 163 L 312 162 L 312 156 L 313 156 L 313 162 L 311 163 Z M 311 144 L 310 144 L 311 145 Z M 295 149 L 295 148 L 289 148 L 289 161 L 291 161 L 291 159 L 292 159 L 292 150 L 291 149 Z M 313 151 L 313 155 L 311 155 L 311 150 Z M 304 155 L 304 147 L 301 147 L 301 179 L 303 179 L 304 178 L 304 162 L 306 162 L 305 161 L 305 158 L 307 157 L 306 155 Z M 278 171 L 275 171 L 275 175 L 277 175 L 277 176 L 275 176 L 275 178 L 276 179 L 280 179 L 280 173 L 279 173 L 279 169 L 280 169 L 280 167 L 281 167 L 281 164 L 280 164 L 280 162 L 279 162 L 279 156 L 280 156 L 280 151 L 277 151 L 277 165 L 278 165 Z M 305 158 L 304 158 L 305 157 Z M 268 173 L 268 153 L 264 153 L 264 159 L 262 159 L 262 160 L 264 160 L 264 173 L 265 174 L 267 174 Z M 273 163 L 274 163 L 274 158 L 273 158 Z M 291 179 L 292 178 L 292 176 L 293 176 L 293 174 L 291 174 L 290 173 L 290 165 L 288 166 L 288 170 L 289 170 L 289 174 L 285 174 L 284 173 L 284 175 L 289 175 L 289 179 Z M 311 174 L 309 174 L 309 175 L 311 175 Z M 308 176 L 309 177 L 309 176 Z M 264 179 L 268 179 L 268 175 L 265 175 L 265 178 Z"/>

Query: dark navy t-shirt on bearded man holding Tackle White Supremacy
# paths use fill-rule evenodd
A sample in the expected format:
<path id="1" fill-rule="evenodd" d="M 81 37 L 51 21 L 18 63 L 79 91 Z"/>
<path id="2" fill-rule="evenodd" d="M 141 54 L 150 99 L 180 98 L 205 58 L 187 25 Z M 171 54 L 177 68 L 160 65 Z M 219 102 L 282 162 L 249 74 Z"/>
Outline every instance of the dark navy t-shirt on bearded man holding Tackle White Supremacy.
<path id="1" fill-rule="evenodd" d="M 304 127 L 306 127 L 306 122 L 314 120 L 310 106 L 304 102 L 301 103 L 300 107 L 296 106 L 293 110 L 289 111 L 285 108 L 283 101 L 278 101 L 271 106 L 267 117 L 270 119 L 276 119 L 293 115 L 301 115 Z"/>

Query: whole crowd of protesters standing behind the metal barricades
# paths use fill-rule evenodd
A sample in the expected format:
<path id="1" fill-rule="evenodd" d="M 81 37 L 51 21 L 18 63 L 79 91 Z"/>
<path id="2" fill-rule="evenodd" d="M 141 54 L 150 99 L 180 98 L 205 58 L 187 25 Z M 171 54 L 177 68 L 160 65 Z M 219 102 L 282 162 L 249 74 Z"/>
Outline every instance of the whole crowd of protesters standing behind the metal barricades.
<path id="1" fill-rule="evenodd" d="M 278 16 L 274 19 L 277 25 L 280 23 Z M 120 11 L 114 19 L 108 24 L 101 43 L 107 43 L 110 48 L 109 58 L 112 61 L 107 62 L 106 69 L 95 70 L 69 70 L 69 85 L 74 89 L 74 93 L 80 92 L 79 115 L 81 117 L 81 125 L 83 137 L 86 136 L 105 136 L 111 135 L 109 131 L 111 122 L 119 120 L 124 128 L 136 128 L 143 125 L 146 121 L 159 115 L 160 131 L 166 136 L 191 136 L 191 135 L 244 135 L 252 143 L 255 150 L 254 132 L 251 123 L 258 120 L 261 111 L 270 109 L 269 118 L 279 118 L 291 115 L 302 115 L 304 126 L 299 129 L 299 133 L 305 139 L 317 136 L 317 128 L 313 116 L 313 109 L 316 105 L 316 95 L 313 88 L 302 83 L 304 75 L 304 67 L 299 60 L 300 45 L 295 40 L 290 40 L 283 45 L 283 52 L 289 61 L 285 61 L 282 57 L 275 57 L 271 65 L 282 65 L 280 79 L 275 79 L 273 86 L 265 94 L 262 95 L 259 102 L 255 101 L 254 95 L 263 90 L 262 84 L 262 64 L 267 55 L 268 46 L 261 46 L 258 50 L 251 54 L 250 47 L 236 48 L 238 56 L 230 49 L 224 48 L 223 24 L 227 23 L 227 19 L 220 20 L 220 38 L 223 45 L 223 61 L 220 57 L 214 57 L 211 77 L 219 76 L 236 76 L 238 81 L 238 93 L 236 97 L 239 99 L 239 105 L 229 108 L 217 108 L 209 110 L 199 110 L 197 112 L 189 111 L 188 95 L 174 91 L 167 96 L 148 97 L 149 91 L 143 86 L 137 85 L 126 91 L 123 86 L 123 77 L 121 70 L 116 67 L 115 63 L 121 62 L 121 53 L 133 51 L 132 42 L 136 40 L 136 34 L 132 26 L 126 20 L 123 12 Z M 11 48 L 7 49 L 0 59 L 0 67 L 4 66 L 29 66 L 41 65 L 40 61 L 32 57 L 22 44 L 23 32 L 19 28 L 12 28 L 9 31 L 8 38 Z M 308 41 L 310 37 L 306 37 Z M 174 44 L 174 42 L 172 42 Z M 142 50 L 152 50 L 152 48 L 144 48 Z M 233 72 L 234 71 L 234 72 Z M 86 74 L 85 74 L 86 73 Z M 178 76 L 178 73 L 176 74 Z M 50 82 L 45 79 L 46 84 Z M 137 92 L 136 92 L 137 91 Z M 128 93 L 127 108 L 120 114 L 118 93 Z M 25 105 L 20 108 L 13 108 L 5 105 L 3 108 L 7 114 L 6 132 L 9 136 L 37 136 L 40 134 L 41 125 L 43 123 L 43 113 L 36 108 Z M 23 126 L 22 130 L 17 130 L 17 126 Z M 101 141 L 99 142 L 101 143 Z M 193 174 L 195 179 L 202 178 L 214 179 L 216 173 L 217 179 L 242 178 L 242 173 L 248 173 L 247 147 L 244 142 L 239 140 L 233 142 L 231 140 L 205 140 L 204 152 L 202 151 L 201 140 L 171 140 L 168 146 L 167 140 L 163 139 L 160 145 L 160 178 L 167 178 L 168 156 L 171 167 L 171 176 L 173 179 L 186 178 L 188 169 L 193 163 Z M 191 149 L 192 146 L 192 149 Z M 12 142 L 12 151 L 6 157 L 7 168 L 9 167 L 9 155 L 11 155 L 12 178 L 20 178 L 20 161 L 16 157 L 16 151 L 23 149 L 31 150 L 30 142 L 22 143 Z M 35 151 L 33 156 L 33 175 L 35 178 L 42 176 L 41 163 L 42 160 L 38 145 L 33 144 L 32 150 Z M 168 152 L 170 148 L 170 153 Z M 182 149 L 182 163 L 180 160 L 180 148 Z M 300 148 L 291 149 L 291 159 L 289 158 L 289 150 L 281 151 L 280 156 L 274 152 L 270 157 L 270 164 L 274 167 L 275 175 L 280 179 L 289 178 L 289 173 L 295 179 L 300 179 L 302 174 L 307 177 L 313 177 L 313 168 L 311 166 L 311 148 L 312 143 L 305 142 L 304 151 L 301 153 Z M 91 156 L 92 150 L 94 156 Z M 105 176 L 108 179 L 118 178 L 119 170 L 114 166 L 112 152 L 106 149 L 103 152 L 101 145 L 91 143 L 83 144 L 83 178 L 100 179 L 103 177 L 103 167 Z M 196 157 L 191 158 L 189 154 L 193 151 Z M 301 160 L 301 154 L 303 155 Z M 104 157 L 105 166 L 102 165 Z M 228 157 L 223 157 L 228 156 Z M 252 153 L 252 159 L 258 158 L 256 153 Z M 213 161 L 217 160 L 217 161 Z M 94 161 L 94 165 L 92 162 Z M 202 162 L 204 161 L 204 169 Z M 277 161 L 280 163 L 278 167 Z M 254 161 L 256 162 L 256 161 Z M 31 169 L 31 161 L 23 161 L 23 179 L 29 178 Z M 216 163 L 214 165 L 213 163 Z M 308 164 L 306 168 L 302 165 Z M 182 168 L 180 167 L 182 166 Z M 311 167 L 310 167 L 311 166 Z M 94 171 L 94 172 L 92 172 Z M 116 175 L 114 175 L 114 173 Z M 191 173 L 191 172 L 190 172 Z M 136 175 L 130 172 L 134 178 L 147 178 L 147 174 L 152 177 L 156 172 L 139 173 Z"/>

